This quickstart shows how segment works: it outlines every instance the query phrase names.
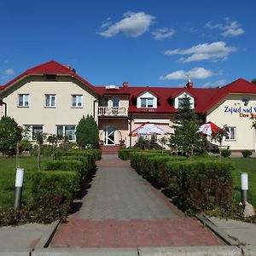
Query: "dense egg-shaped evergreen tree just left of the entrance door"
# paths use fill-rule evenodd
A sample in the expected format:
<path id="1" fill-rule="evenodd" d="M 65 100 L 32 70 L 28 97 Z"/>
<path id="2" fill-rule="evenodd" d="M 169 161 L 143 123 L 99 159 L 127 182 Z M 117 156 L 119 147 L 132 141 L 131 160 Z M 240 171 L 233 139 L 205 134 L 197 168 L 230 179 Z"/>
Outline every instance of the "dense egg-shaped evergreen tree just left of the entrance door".
<path id="1" fill-rule="evenodd" d="M 79 120 L 76 129 L 77 143 L 80 148 L 97 148 L 99 144 L 99 130 L 95 119 L 90 115 Z"/>

